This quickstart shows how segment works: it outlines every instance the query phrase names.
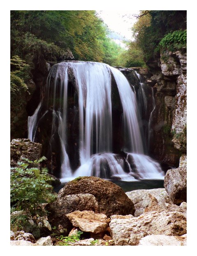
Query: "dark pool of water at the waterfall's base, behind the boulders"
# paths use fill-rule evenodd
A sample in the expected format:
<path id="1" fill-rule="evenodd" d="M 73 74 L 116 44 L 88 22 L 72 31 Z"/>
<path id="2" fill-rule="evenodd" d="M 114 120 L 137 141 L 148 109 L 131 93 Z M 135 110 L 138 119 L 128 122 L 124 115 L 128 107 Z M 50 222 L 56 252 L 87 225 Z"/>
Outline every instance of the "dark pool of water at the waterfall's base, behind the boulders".
<path id="1" fill-rule="evenodd" d="M 163 180 L 137 180 L 137 181 L 122 181 L 122 180 L 110 180 L 115 183 L 119 187 L 121 187 L 124 192 L 136 190 L 136 189 L 158 189 L 164 187 Z M 55 187 L 55 192 L 59 192 L 62 187 L 64 187 L 66 183 L 61 184 L 58 187 Z"/>

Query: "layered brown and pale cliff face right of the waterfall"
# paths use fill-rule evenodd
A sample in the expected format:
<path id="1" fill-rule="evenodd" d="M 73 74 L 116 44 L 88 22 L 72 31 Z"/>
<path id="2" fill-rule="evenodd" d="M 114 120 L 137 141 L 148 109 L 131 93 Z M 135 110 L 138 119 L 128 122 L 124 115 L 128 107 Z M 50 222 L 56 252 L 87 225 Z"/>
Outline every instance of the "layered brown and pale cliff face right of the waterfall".
<path id="1" fill-rule="evenodd" d="M 159 161 L 179 166 L 186 152 L 187 53 L 185 49 L 161 53 L 160 65 L 152 67 L 150 80 L 156 88 L 153 137 L 150 154 Z"/>

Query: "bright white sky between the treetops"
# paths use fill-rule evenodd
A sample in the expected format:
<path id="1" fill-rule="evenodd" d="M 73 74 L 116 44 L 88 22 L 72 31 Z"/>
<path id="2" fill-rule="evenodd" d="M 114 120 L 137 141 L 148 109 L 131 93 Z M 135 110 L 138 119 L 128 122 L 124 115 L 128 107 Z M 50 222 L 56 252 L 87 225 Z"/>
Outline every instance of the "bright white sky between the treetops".
<path id="1" fill-rule="evenodd" d="M 103 19 L 104 23 L 108 25 L 110 30 L 118 32 L 126 39 L 133 39 L 131 28 L 137 21 L 137 18 L 135 18 L 134 15 L 138 14 L 140 11 L 96 10 L 96 12 L 98 13 L 98 16 Z"/>

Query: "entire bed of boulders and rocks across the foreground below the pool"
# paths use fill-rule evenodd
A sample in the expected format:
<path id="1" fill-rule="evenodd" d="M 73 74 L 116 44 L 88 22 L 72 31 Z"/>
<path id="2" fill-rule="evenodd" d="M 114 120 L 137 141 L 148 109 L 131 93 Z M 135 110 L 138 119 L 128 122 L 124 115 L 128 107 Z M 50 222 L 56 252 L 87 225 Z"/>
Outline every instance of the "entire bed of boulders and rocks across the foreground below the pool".
<path id="1" fill-rule="evenodd" d="M 186 165 L 168 170 L 164 185 L 125 193 L 107 180 L 76 178 L 44 205 L 45 217 L 11 231 L 11 245 L 186 245 Z"/>

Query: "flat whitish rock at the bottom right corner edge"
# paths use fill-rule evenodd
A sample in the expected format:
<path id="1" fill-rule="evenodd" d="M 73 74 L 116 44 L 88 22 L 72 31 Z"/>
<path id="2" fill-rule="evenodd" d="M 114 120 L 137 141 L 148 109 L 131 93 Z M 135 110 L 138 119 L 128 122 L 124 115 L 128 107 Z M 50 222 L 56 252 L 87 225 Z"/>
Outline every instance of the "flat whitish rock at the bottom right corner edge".
<path id="1" fill-rule="evenodd" d="M 147 235 L 140 239 L 138 245 L 187 245 L 187 236 L 172 236 L 172 235 Z"/>

